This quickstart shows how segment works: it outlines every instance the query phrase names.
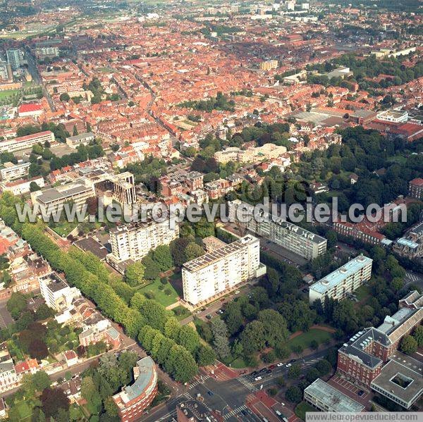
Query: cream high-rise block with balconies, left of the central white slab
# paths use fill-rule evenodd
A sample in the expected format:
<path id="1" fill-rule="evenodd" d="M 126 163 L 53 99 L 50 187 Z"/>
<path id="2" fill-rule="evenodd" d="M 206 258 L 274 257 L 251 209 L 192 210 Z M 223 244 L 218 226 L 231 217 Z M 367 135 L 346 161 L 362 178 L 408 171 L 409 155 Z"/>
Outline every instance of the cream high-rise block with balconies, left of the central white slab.
<path id="1" fill-rule="evenodd" d="M 179 237 L 178 222 L 166 218 L 156 222 L 152 219 L 118 226 L 110 232 L 111 254 L 107 261 L 118 271 L 124 271 L 121 263 L 140 261 L 161 244 L 169 244 Z"/>

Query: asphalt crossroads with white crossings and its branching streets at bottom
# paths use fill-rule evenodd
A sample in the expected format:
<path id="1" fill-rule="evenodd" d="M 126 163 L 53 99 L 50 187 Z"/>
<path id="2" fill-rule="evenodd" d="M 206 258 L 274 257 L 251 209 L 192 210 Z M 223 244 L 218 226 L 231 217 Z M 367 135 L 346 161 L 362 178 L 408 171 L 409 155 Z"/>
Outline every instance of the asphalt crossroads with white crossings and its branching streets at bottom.
<path id="1" fill-rule="evenodd" d="M 296 364 L 300 364 L 302 373 L 305 373 L 311 366 L 323 359 L 327 354 L 327 349 L 313 352 L 305 358 L 297 359 Z M 197 379 L 188 386 L 188 390 L 178 397 L 166 402 L 164 407 L 153 411 L 142 417 L 143 422 L 167 422 L 176 415 L 176 405 L 187 400 L 197 399 L 197 395 L 202 397 L 202 404 L 207 409 L 217 410 L 223 414 L 225 421 L 236 421 L 236 416 L 246 411 L 247 415 L 242 414 L 243 421 L 260 421 L 260 419 L 248 413 L 245 406 L 245 398 L 262 388 L 266 389 L 271 385 L 276 385 L 277 379 L 286 377 L 288 368 L 286 366 L 276 367 L 270 374 L 259 374 L 262 380 L 255 380 L 254 376 L 245 374 L 227 381 L 219 381 L 210 376 L 203 379 Z M 197 377 L 200 378 L 200 377 Z"/>

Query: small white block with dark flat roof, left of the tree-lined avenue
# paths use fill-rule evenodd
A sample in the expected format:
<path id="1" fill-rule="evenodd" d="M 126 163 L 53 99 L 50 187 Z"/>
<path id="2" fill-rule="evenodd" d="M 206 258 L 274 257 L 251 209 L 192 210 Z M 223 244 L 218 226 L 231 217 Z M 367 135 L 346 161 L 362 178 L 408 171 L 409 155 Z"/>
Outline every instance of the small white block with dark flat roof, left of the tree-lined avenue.
<path id="1" fill-rule="evenodd" d="M 60 312 L 71 306 L 73 299 L 80 296 L 76 287 L 69 287 L 56 273 L 39 277 L 39 290 L 47 306 Z"/>

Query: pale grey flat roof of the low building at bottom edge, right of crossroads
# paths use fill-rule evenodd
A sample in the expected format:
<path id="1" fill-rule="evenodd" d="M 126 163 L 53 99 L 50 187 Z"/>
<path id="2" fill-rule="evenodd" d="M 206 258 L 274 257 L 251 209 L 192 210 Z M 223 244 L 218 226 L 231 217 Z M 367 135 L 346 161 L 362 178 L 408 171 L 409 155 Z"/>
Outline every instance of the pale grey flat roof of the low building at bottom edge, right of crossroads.
<path id="1" fill-rule="evenodd" d="M 311 385 L 309 385 L 304 392 L 309 393 L 313 397 L 323 402 L 326 407 L 333 409 L 335 412 L 360 412 L 364 406 L 350 397 L 343 394 L 343 392 L 336 390 L 324 380 L 317 378 Z"/>

